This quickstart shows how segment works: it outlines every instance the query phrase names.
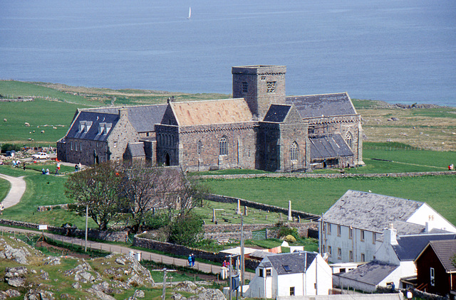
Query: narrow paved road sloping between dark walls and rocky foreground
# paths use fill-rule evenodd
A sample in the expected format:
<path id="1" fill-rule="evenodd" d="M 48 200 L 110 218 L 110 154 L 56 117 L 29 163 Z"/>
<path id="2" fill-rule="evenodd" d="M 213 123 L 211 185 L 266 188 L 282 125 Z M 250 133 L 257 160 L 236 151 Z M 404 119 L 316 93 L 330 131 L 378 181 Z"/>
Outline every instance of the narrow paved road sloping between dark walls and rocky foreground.
<path id="1" fill-rule="evenodd" d="M 12 228 L 12 227 L 5 227 L 5 226 L 0 226 L 1 232 L 22 232 L 22 233 L 32 233 L 39 235 L 40 232 L 34 231 L 34 230 L 26 230 L 26 229 L 19 229 L 19 228 Z M 79 239 L 76 237 L 67 237 L 63 235 L 54 235 L 52 233 L 45 232 L 44 233 L 45 237 L 48 237 L 52 240 L 57 240 L 59 242 L 66 242 L 68 244 L 73 244 L 73 245 L 81 245 L 82 247 L 85 247 L 86 241 L 83 239 Z M 105 244 L 103 242 L 92 242 L 92 241 L 87 241 L 87 247 L 93 250 L 103 250 L 105 252 L 118 252 L 118 253 L 123 253 L 126 255 L 130 254 L 130 251 L 134 252 L 141 252 L 141 257 L 142 259 L 149 260 L 152 262 L 160 262 L 162 264 L 172 264 L 174 266 L 180 266 L 180 267 L 187 267 L 187 259 L 181 259 L 181 258 L 175 258 L 175 257 L 168 257 L 166 255 L 159 255 L 157 253 L 152 253 L 152 252 L 147 252 L 147 251 L 139 251 L 132 249 L 130 247 L 125 247 L 125 246 L 120 246 L 120 245 L 110 245 L 110 244 Z M 218 265 L 213 265 L 213 264 L 204 264 L 202 262 L 196 262 L 195 267 L 198 271 L 205 272 L 205 273 L 212 273 L 212 274 L 220 274 L 221 267 Z M 245 279 L 253 279 L 255 274 L 251 272 L 245 272 Z"/>

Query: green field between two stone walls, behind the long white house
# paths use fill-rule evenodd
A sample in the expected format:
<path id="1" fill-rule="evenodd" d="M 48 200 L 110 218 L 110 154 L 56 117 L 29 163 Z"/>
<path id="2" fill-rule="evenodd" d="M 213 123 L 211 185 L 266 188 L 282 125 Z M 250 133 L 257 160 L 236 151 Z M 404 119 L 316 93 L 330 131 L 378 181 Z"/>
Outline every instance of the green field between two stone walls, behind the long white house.
<path id="1" fill-rule="evenodd" d="M 347 190 L 423 201 L 456 224 L 455 176 L 383 178 L 244 178 L 203 180 L 213 193 L 320 215 Z"/>

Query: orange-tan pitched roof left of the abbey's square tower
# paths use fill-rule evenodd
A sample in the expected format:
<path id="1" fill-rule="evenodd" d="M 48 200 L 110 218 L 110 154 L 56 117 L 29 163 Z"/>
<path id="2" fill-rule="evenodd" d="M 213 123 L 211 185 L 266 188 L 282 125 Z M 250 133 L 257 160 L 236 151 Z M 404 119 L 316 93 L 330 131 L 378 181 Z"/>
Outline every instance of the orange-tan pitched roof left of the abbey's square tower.
<path id="1" fill-rule="evenodd" d="M 170 106 L 180 126 L 252 121 L 252 112 L 244 98 L 171 102 Z"/>

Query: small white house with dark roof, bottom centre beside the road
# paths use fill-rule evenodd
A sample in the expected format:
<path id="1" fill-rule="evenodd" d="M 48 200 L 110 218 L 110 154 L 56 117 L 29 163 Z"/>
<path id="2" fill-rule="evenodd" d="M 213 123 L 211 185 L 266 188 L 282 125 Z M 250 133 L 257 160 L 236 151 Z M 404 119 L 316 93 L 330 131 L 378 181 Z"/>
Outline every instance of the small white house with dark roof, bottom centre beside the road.
<path id="1" fill-rule="evenodd" d="M 244 296 L 327 295 L 333 286 L 331 267 L 316 252 L 293 252 L 266 256 Z"/>

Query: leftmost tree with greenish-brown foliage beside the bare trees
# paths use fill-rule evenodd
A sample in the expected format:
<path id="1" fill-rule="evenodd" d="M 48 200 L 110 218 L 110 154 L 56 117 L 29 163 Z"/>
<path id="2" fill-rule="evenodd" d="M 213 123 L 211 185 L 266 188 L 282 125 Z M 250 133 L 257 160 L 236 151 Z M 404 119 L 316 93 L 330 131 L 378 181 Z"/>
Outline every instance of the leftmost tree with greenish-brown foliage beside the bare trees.
<path id="1" fill-rule="evenodd" d="M 125 205 L 125 198 L 120 194 L 121 181 L 115 165 L 105 162 L 73 173 L 65 183 L 65 193 L 76 199 L 78 213 L 85 214 L 88 206 L 90 218 L 100 230 L 106 230 Z"/>

